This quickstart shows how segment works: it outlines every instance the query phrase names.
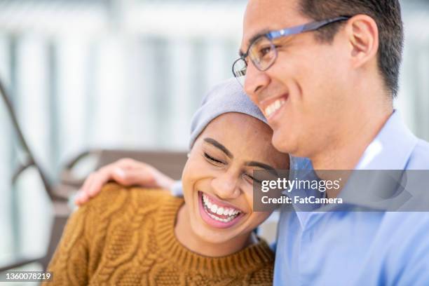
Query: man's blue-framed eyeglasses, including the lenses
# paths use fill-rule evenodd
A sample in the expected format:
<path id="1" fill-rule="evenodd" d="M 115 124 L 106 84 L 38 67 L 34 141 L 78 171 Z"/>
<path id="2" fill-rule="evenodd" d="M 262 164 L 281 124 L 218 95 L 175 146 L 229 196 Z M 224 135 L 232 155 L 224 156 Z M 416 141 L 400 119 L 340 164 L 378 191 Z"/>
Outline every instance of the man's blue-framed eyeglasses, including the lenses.
<path id="1" fill-rule="evenodd" d="M 274 39 L 282 36 L 291 36 L 294 34 L 301 34 L 304 32 L 315 31 L 321 27 L 332 24 L 334 22 L 344 21 L 350 19 L 350 16 L 341 16 L 328 20 L 317 22 L 310 22 L 305 25 L 290 27 L 287 29 L 280 29 L 278 31 L 268 32 L 261 36 L 257 36 L 252 43 L 250 43 L 247 52 L 240 55 L 240 58 L 233 63 L 233 75 L 236 77 L 241 86 L 244 86 L 245 76 L 247 71 L 247 57 L 253 62 L 254 66 L 260 71 L 269 69 L 277 59 L 277 50 L 275 49 Z"/>

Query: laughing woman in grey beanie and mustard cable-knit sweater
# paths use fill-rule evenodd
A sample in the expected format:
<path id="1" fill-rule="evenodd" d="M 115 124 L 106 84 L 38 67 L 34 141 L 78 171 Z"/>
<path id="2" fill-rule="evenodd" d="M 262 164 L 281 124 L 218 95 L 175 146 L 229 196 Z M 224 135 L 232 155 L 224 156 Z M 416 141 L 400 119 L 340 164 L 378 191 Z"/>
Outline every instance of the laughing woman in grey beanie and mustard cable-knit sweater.
<path id="1" fill-rule="evenodd" d="M 107 184 L 72 215 L 49 270 L 57 285 L 271 285 L 273 252 L 252 232 L 253 170 L 287 169 L 264 116 L 234 79 L 193 118 L 184 198 Z"/>

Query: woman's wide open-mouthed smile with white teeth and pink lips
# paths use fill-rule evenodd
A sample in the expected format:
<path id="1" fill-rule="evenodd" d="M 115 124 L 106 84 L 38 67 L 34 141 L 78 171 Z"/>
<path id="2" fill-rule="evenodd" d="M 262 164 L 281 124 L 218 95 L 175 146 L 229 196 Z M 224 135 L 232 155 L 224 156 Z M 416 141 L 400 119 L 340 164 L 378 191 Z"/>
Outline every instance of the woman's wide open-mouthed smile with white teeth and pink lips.
<path id="1" fill-rule="evenodd" d="M 245 215 L 245 212 L 198 191 L 198 205 L 203 221 L 217 229 L 229 228 Z"/>

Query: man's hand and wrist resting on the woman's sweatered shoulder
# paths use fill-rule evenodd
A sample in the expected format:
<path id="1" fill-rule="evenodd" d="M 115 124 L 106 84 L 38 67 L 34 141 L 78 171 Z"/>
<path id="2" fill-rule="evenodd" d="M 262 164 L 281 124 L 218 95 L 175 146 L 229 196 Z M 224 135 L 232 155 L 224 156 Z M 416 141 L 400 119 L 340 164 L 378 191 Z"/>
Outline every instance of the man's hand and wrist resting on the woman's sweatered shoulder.
<path id="1" fill-rule="evenodd" d="M 90 198 L 97 196 L 102 186 L 111 180 L 123 186 L 137 185 L 168 189 L 173 195 L 182 196 L 182 184 L 177 183 L 179 181 L 175 181 L 149 164 L 123 158 L 91 173 L 76 196 L 76 205 L 83 205 Z"/>

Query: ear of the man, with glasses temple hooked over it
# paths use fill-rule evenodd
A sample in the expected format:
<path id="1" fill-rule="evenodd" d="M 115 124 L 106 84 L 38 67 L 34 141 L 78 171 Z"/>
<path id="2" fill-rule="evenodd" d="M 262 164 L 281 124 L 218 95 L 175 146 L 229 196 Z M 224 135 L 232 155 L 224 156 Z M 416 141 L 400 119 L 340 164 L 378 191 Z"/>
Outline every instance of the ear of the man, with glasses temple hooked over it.
<path id="1" fill-rule="evenodd" d="M 346 33 L 353 67 L 361 67 L 376 57 L 379 51 L 379 28 L 368 15 L 355 15 L 348 20 Z"/>

